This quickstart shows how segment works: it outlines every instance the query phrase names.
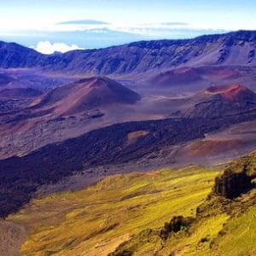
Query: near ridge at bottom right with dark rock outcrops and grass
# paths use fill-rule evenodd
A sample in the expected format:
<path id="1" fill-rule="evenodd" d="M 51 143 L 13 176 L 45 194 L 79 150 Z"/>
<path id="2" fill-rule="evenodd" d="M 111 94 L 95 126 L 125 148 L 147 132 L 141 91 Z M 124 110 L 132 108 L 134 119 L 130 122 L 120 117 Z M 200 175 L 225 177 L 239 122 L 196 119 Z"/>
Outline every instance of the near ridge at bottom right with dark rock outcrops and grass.
<path id="1" fill-rule="evenodd" d="M 254 152 L 216 178 L 195 218 L 179 214 L 163 228 L 143 230 L 108 255 L 254 255 L 256 189 L 251 182 L 255 173 Z"/>

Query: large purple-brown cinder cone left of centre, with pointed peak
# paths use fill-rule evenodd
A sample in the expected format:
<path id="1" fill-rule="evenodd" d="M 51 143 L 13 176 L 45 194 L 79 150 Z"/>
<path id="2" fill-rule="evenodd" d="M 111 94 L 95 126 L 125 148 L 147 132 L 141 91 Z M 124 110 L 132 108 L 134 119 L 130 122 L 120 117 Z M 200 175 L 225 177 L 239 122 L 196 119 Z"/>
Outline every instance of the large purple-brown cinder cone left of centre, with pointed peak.
<path id="1" fill-rule="evenodd" d="M 79 113 L 110 104 L 132 104 L 141 97 L 123 85 L 102 77 L 81 79 L 49 91 L 31 103 L 33 109 L 53 109 L 55 114 Z"/>

